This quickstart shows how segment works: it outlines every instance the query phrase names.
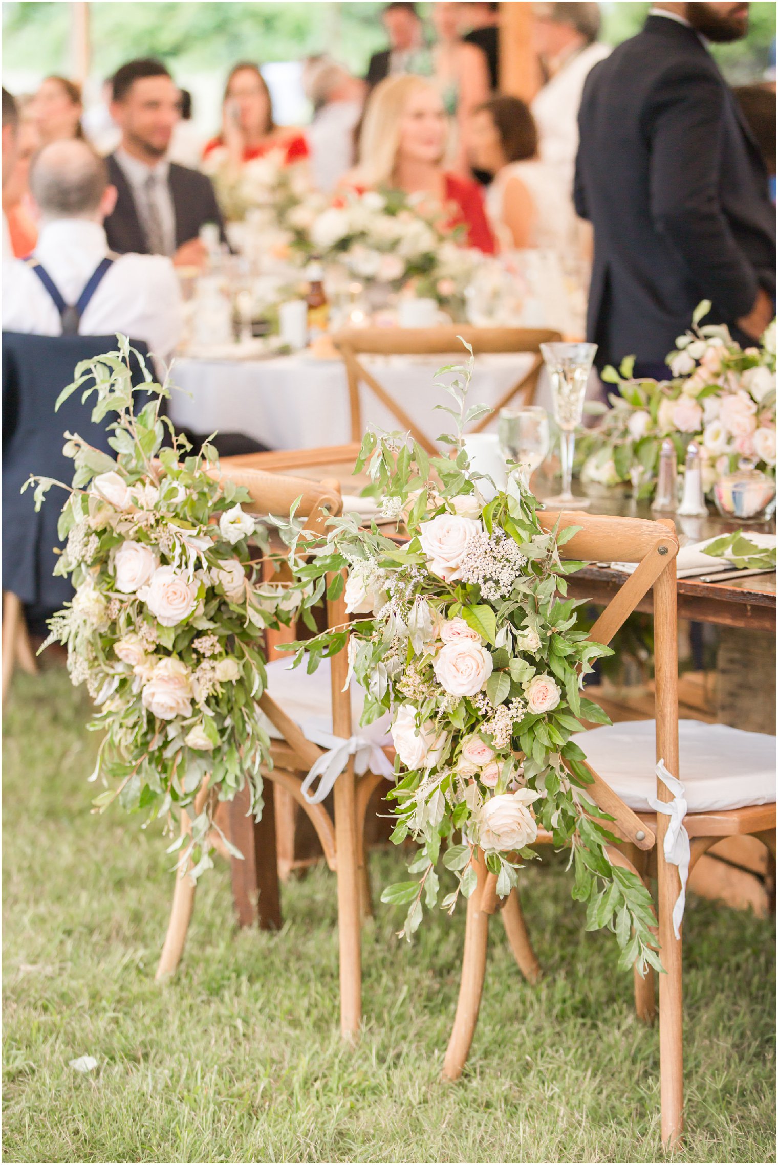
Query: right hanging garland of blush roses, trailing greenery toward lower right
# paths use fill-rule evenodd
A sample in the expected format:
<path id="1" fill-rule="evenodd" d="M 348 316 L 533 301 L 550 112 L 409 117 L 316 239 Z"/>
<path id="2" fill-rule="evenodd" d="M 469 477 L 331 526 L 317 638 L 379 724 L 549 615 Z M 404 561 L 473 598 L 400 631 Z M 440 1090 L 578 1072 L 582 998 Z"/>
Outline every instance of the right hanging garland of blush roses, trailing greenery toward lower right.
<path id="1" fill-rule="evenodd" d="M 347 567 L 346 607 L 359 616 L 349 677 L 366 691 L 362 722 L 392 716 L 392 840 L 410 836 L 419 850 L 416 877 L 388 887 L 382 901 L 408 906 L 401 933 L 410 937 L 424 906 L 438 902 L 439 859 L 455 880 L 440 906 L 451 913 L 460 894 L 473 894 L 476 847 L 505 897 L 521 866 L 538 856 L 530 847 L 543 827 L 571 850 L 587 929 L 615 932 L 621 966 L 659 967 L 649 894 L 610 863 L 606 846 L 615 839 L 587 797 L 585 754 L 571 741 L 579 718 L 609 722 L 580 689 L 592 661 L 610 649 L 577 629 L 580 603 L 565 598 L 566 576 L 581 564 L 561 562 L 559 548 L 578 528 L 544 531 L 516 475 L 485 502 L 462 444 L 465 424 L 488 411 L 466 405 L 472 368 L 471 351 L 467 368 L 443 369 L 457 373 L 444 386 L 457 403 L 446 409 L 457 432 L 440 438 L 457 446 L 454 460 L 430 460 L 402 433 L 365 438 L 356 468 L 369 466 L 386 516 L 405 515 L 409 543 L 346 515 L 304 544 L 313 555 L 305 581 Z M 305 658 L 311 671 L 344 640 L 335 628 L 290 645 L 295 663 Z"/>

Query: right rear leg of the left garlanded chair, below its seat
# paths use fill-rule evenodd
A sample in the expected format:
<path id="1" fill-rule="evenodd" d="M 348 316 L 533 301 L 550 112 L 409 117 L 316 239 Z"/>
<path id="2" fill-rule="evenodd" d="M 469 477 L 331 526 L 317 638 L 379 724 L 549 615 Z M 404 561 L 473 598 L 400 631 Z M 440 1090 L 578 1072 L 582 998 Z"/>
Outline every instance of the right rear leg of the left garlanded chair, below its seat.
<path id="1" fill-rule="evenodd" d="M 333 790 L 340 944 L 340 1032 L 355 1043 L 362 1019 L 362 949 L 353 763 Z"/>

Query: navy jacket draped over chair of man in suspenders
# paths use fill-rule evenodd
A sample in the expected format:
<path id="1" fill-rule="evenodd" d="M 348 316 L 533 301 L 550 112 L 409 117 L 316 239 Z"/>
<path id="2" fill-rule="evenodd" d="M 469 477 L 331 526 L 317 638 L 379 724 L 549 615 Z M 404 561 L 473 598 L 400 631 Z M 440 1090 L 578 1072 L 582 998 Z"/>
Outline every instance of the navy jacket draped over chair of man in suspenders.
<path id="1" fill-rule="evenodd" d="M 146 344 L 132 341 L 146 358 Z M 80 360 L 116 351 L 115 336 L 27 336 L 2 333 L 2 587 L 19 595 L 33 617 L 57 610 L 72 598 L 66 578 L 54 577 L 57 520 L 65 500 L 52 487 L 35 513 L 33 487 L 20 490 L 30 473 L 70 483 L 73 463 L 64 457 L 63 433 L 78 433 L 111 457 L 109 433 L 105 424 L 91 421 L 96 396 L 82 404 L 87 387 L 73 393 L 54 411 L 62 389 L 73 379 Z M 142 383 L 140 366 L 133 382 Z"/>

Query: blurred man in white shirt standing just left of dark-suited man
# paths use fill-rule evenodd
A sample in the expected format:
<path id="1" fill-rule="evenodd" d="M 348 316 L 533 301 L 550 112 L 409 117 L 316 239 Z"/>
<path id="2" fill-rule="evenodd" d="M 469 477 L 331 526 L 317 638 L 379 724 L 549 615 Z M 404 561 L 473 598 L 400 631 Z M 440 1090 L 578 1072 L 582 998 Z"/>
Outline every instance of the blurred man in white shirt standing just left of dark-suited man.
<path id="1" fill-rule="evenodd" d="M 531 108 L 540 137 L 540 157 L 553 165 L 572 198 L 578 111 L 589 70 L 610 49 L 597 42 L 600 6 L 565 0 L 533 6 L 532 40 L 547 77 Z"/>

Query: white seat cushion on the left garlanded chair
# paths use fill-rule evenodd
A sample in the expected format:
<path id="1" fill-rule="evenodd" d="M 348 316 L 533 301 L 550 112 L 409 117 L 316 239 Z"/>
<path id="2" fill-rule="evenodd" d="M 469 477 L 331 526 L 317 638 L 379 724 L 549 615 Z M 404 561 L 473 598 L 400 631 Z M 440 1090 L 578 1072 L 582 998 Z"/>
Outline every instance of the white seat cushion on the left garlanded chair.
<path id="1" fill-rule="evenodd" d="M 274 659 L 268 664 L 268 696 L 276 701 L 295 723 L 299 725 L 305 736 L 311 733 L 332 735 L 332 694 L 330 687 L 330 661 L 323 659 L 312 676 L 305 671 L 305 662 L 299 668 L 289 670 L 290 659 Z M 390 744 L 389 713 L 362 726 L 360 720 L 365 706 L 365 689 L 352 679 L 349 690 L 352 701 L 352 734 L 363 736 L 374 744 Z M 274 740 L 281 740 L 281 733 L 270 721 L 267 728 Z"/>

